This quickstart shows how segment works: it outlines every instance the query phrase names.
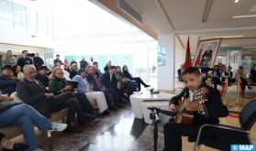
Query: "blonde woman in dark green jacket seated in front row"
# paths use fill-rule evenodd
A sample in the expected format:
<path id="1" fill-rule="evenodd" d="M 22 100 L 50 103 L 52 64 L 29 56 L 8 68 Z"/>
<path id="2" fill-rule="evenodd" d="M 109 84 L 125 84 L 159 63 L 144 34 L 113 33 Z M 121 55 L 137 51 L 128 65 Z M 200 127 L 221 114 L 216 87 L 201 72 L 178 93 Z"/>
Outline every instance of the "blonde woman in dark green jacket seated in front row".
<path id="1" fill-rule="evenodd" d="M 63 70 L 59 67 L 56 67 L 50 74 L 49 91 L 55 96 L 58 96 L 64 92 L 74 92 L 72 84 L 69 84 L 68 81 L 63 79 Z M 94 109 L 84 92 L 76 92 L 73 94 L 76 99 L 82 103 L 83 107 L 81 107 L 81 109 L 83 108 L 85 113 L 91 113 L 92 115 L 100 114 Z"/>

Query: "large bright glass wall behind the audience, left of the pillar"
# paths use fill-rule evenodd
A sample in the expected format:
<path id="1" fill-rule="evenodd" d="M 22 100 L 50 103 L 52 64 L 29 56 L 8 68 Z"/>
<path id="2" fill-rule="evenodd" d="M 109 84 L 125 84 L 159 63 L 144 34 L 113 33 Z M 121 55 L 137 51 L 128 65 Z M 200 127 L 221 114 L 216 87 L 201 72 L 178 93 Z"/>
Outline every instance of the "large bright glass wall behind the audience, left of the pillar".
<path id="1" fill-rule="evenodd" d="M 156 76 L 157 40 L 114 16 L 104 6 L 85 0 L 54 0 L 54 56 L 77 62 L 94 57 L 103 71 L 107 61 L 128 65 L 134 76 Z"/>

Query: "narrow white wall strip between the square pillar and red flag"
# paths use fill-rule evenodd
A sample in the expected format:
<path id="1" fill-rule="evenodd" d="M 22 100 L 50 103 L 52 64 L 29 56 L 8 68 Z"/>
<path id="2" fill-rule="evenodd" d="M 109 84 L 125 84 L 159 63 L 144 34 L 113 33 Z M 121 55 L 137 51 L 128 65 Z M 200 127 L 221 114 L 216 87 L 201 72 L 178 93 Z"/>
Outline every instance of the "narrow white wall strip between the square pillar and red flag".
<path id="1" fill-rule="evenodd" d="M 184 48 L 181 45 L 178 38 L 175 37 L 175 77 L 178 77 L 177 70 L 180 69 L 180 65 L 184 64 Z"/>

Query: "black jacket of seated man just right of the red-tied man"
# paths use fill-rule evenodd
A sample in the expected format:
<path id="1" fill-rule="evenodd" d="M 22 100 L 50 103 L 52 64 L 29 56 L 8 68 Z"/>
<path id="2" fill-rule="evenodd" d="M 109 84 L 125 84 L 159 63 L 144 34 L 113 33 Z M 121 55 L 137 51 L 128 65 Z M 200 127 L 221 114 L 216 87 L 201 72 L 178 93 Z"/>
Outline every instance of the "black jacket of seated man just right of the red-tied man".
<path id="1" fill-rule="evenodd" d="M 105 85 L 106 89 L 117 89 L 117 83 L 119 82 L 115 74 L 112 75 L 112 81 L 110 81 L 110 74 L 108 70 L 102 74 L 100 81 Z"/>

